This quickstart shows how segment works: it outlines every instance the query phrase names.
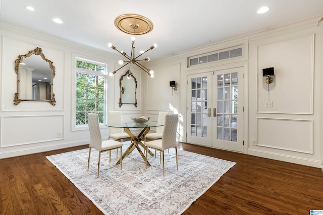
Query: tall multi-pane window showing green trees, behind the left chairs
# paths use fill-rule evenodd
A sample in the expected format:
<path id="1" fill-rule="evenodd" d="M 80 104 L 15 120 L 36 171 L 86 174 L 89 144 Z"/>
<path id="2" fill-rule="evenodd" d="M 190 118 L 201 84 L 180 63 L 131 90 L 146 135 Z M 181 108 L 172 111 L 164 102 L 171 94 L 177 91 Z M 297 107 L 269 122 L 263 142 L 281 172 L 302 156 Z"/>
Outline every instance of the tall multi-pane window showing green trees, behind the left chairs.
<path id="1" fill-rule="evenodd" d="M 75 125 L 87 124 L 87 114 L 97 113 L 104 122 L 106 64 L 76 59 Z"/>

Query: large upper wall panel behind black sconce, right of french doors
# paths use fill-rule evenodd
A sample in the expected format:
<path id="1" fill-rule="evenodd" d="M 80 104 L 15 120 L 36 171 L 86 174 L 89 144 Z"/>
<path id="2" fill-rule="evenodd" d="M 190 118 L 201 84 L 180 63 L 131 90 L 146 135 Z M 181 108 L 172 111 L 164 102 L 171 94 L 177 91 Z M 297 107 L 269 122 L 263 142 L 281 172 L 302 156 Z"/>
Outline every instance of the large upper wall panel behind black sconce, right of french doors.
<path id="1" fill-rule="evenodd" d="M 314 36 L 257 45 L 258 113 L 313 114 Z M 275 72 L 269 89 L 262 77 L 267 67 Z"/>

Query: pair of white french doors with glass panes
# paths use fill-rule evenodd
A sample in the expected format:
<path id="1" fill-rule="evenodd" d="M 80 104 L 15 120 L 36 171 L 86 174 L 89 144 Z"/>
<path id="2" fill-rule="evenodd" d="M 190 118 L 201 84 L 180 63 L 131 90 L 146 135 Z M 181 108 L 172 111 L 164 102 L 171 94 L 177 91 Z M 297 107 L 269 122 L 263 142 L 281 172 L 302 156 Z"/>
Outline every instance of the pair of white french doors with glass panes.
<path id="1" fill-rule="evenodd" d="M 187 142 L 243 152 L 243 71 L 187 76 Z"/>

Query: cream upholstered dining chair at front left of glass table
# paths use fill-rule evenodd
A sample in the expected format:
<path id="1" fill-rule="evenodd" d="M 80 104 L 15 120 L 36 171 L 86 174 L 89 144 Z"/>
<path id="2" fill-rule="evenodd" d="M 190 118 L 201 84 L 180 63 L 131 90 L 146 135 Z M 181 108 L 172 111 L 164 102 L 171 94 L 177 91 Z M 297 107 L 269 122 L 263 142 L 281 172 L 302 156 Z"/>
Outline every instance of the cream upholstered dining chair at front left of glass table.
<path id="1" fill-rule="evenodd" d="M 101 131 L 99 127 L 99 119 L 97 114 L 95 113 L 88 114 L 88 125 L 89 125 L 89 131 L 90 131 L 90 147 L 89 147 L 89 159 L 87 163 L 87 171 L 89 171 L 91 149 L 93 148 L 99 151 L 99 159 L 97 164 L 97 177 L 99 177 L 101 153 L 109 151 L 109 160 L 110 160 L 109 163 L 111 164 L 111 150 L 117 150 L 117 153 L 118 153 L 118 149 L 120 149 L 120 152 L 121 152 L 120 154 L 122 155 L 122 142 L 119 142 L 114 139 L 102 141 Z M 122 169 L 122 156 L 120 158 L 120 168 Z"/>

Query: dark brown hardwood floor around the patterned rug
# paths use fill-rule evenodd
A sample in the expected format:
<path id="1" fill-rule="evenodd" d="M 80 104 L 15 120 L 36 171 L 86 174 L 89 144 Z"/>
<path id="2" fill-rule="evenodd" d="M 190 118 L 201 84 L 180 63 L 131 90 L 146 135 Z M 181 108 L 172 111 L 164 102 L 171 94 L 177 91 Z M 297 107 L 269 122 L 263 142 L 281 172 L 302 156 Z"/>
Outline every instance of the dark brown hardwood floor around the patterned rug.
<path id="1" fill-rule="evenodd" d="M 0 160 L 0 214 L 103 214 L 45 156 Z M 236 162 L 183 214 L 309 214 L 323 209 L 320 169 L 179 143 L 180 150 Z M 180 167 L 179 167 L 180 168 Z"/>

